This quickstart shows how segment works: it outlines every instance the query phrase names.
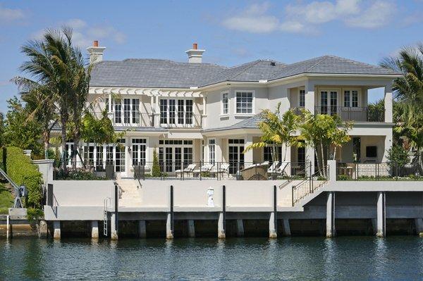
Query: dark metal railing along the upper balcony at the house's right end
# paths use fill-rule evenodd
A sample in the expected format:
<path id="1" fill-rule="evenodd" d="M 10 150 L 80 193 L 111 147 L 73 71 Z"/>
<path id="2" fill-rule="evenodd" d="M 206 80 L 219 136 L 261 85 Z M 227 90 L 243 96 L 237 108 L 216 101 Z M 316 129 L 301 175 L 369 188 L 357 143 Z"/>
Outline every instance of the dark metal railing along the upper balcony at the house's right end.
<path id="1" fill-rule="evenodd" d="M 368 107 L 316 106 L 315 114 L 338 115 L 345 121 L 384 122 L 384 110 Z"/>

